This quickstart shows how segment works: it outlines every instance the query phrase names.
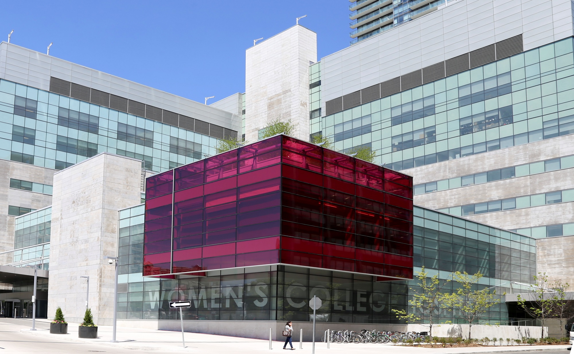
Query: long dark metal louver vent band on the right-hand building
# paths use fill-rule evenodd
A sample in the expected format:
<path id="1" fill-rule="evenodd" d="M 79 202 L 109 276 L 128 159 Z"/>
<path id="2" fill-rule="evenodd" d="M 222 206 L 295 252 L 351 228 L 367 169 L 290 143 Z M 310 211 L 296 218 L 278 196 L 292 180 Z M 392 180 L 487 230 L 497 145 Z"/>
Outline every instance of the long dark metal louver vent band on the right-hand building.
<path id="1" fill-rule="evenodd" d="M 325 102 L 325 116 L 362 105 L 363 103 L 375 101 L 375 99 L 387 97 L 408 90 L 409 88 L 420 86 L 421 84 L 459 74 L 459 72 L 483 66 L 523 51 L 522 34 L 518 34 L 509 39 L 441 61 L 440 63 L 422 68 L 421 70 L 398 76 L 381 84 L 369 86 L 342 97 L 330 99 Z M 380 95 L 374 93 L 373 88 L 377 86 L 380 87 Z"/>

